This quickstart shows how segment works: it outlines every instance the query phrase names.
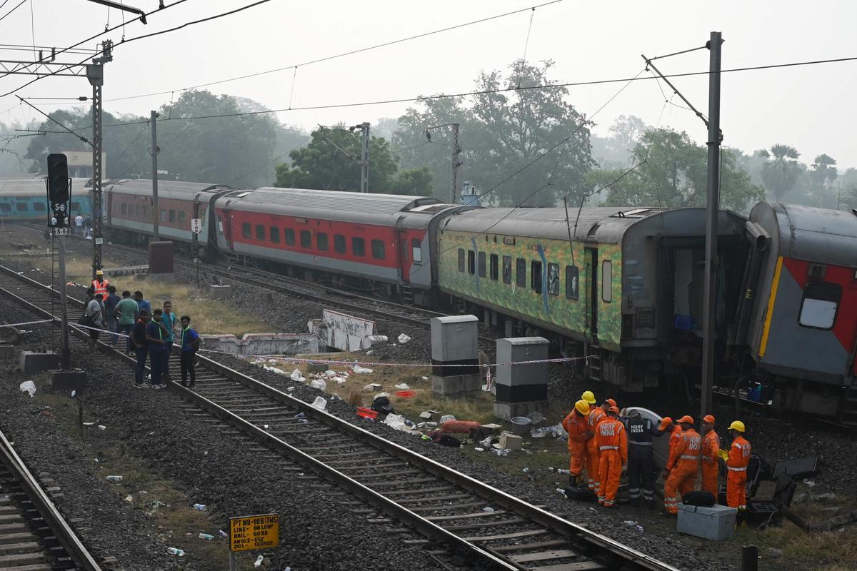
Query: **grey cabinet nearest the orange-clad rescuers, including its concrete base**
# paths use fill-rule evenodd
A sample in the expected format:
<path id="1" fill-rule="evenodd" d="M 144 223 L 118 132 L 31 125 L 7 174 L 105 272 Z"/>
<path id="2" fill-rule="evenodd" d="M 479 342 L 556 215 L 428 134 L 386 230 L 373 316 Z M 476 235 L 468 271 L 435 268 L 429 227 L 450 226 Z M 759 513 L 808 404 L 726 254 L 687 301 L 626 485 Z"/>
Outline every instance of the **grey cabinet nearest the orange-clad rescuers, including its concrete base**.
<path id="1" fill-rule="evenodd" d="M 548 413 L 548 340 L 544 337 L 512 337 L 497 340 L 498 365 L 494 415 L 500 419 Z"/>

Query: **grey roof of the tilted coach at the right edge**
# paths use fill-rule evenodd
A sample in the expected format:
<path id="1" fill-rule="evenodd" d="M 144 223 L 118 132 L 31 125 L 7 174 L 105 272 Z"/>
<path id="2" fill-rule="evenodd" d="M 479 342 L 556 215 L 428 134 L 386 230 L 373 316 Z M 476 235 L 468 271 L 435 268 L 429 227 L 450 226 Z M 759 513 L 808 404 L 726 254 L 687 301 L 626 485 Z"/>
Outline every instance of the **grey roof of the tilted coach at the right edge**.
<path id="1" fill-rule="evenodd" d="M 750 212 L 750 219 L 771 235 L 778 235 L 778 255 L 857 266 L 857 214 L 853 211 L 760 202 Z"/>

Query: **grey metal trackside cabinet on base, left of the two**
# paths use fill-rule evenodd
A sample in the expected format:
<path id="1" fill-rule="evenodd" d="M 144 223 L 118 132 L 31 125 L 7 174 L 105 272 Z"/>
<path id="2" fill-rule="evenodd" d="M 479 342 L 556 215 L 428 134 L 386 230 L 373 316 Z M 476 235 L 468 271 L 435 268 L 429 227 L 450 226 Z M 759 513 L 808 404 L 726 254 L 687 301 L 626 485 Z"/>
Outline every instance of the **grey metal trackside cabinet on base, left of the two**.
<path id="1" fill-rule="evenodd" d="M 455 396 L 482 390 L 479 374 L 479 319 L 454 315 L 431 319 L 431 389 Z"/>

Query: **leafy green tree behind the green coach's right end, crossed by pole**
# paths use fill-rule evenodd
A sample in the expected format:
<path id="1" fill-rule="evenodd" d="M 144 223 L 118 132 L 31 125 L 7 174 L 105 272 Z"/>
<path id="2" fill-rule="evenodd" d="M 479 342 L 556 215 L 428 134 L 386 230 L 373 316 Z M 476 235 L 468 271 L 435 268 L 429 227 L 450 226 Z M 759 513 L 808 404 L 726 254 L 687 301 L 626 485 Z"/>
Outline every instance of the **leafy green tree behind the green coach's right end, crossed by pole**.
<path id="1" fill-rule="evenodd" d="M 672 129 L 650 129 L 634 147 L 632 162 L 638 167 L 602 170 L 587 177 L 590 192 L 608 187 L 605 205 L 704 206 L 707 196 L 707 151 L 687 134 Z M 764 189 L 740 169 L 733 152 L 721 153 L 720 206 L 744 212 L 764 198 Z M 623 176 L 624 175 L 624 176 Z"/>

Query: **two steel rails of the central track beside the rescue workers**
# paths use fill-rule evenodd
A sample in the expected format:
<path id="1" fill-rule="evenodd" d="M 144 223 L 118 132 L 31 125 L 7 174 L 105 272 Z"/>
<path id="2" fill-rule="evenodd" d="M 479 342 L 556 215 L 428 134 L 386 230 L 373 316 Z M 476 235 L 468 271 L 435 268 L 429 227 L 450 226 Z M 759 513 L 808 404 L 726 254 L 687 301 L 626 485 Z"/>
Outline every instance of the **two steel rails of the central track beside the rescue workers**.
<path id="1" fill-rule="evenodd" d="M 4 266 L 0 266 L 0 271 L 3 271 L 25 283 L 29 283 L 33 285 L 33 287 L 38 287 L 44 290 L 51 291 L 55 295 L 58 294 L 56 290 L 50 288 L 49 286 L 36 282 L 32 278 L 21 276 L 17 272 L 9 270 L 9 268 L 6 268 Z M 3 292 L 10 294 L 6 290 L 3 290 Z M 20 299 L 15 294 L 10 295 L 15 297 L 16 299 Z M 81 303 L 77 300 L 75 300 L 75 302 L 78 304 Z M 29 304 L 28 302 L 25 303 L 27 306 L 35 307 L 33 306 L 33 304 Z M 38 307 L 36 308 L 36 311 L 40 314 L 51 316 L 50 312 L 46 312 L 45 310 L 42 310 Z M 73 326 L 71 326 L 71 329 L 79 331 Z M 103 342 L 98 342 L 98 344 L 107 352 L 117 354 L 117 356 L 121 356 L 125 360 L 133 361 L 133 359 L 131 359 L 127 355 L 119 352 L 117 349 L 110 348 Z M 345 419 L 340 419 L 338 416 L 335 416 L 331 413 L 318 410 L 317 408 L 310 406 L 309 403 L 304 402 L 295 396 L 288 395 L 287 393 L 278 390 L 272 387 L 271 385 L 262 383 L 261 381 L 255 378 L 251 378 L 248 375 L 243 374 L 242 372 L 237 372 L 234 369 L 231 369 L 231 367 L 225 366 L 216 360 L 209 359 L 199 354 L 197 355 L 197 360 L 199 360 L 200 363 L 206 366 L 208 369 L 212 370 L 213 372 L 217 372 L 220 375 L 223 375 L 225 378 L 230 378 L 231 380 L 237 381 L 238 383 L 252 388 L 253 390 L 256 390 L 262 395 L 267 396 L 268 398 L 271 398 L 275 401 L 279 401 L 291 407 L 295 407 L 306 413 L 308 416 L 311 416 L 326 425 L 333 426 L 340 432 L 345 432 L 346 434 L 350 434 L 351 436 L 359 438 L 361 441 L 363 441 L 363 443 L 368 443 L 376 449 L 383 450 L 388 454 L 398 457 L 399 459 L 405 460 L 411 463 L 412 465 L 420 467 L 424 471 L 431 473 L 441 479 L 445 479 L 446 481 L 454 485 L 458 485 L 464 490 L 470 491 L 479 497 L 489 500 L 492 503 L 498 503 L 508 509 L 513 510 L 518 514 L 522 514 L 525 517 L 530 518 L 530 520 L 547 528 L 548 530 L 557 532 L 560 535 L 566 537 L 570 544 L 574 544 L 575 546 L 582 548 L 584 551 L 594 552 L 598 554 L 594 556 L 594 558 L 596 558 L 596 561 L 598 561 L 599 556 L 601 556 L 602 558 L 604 556 L 607 556 L 611 560 L 610 562 L 604 562 L 605 565 L 608 566 L 608 568 L 621 568 L 623 564 L 630 564 L 632 568 L 648 569 L 649 571 L 679 571 L 678 568 L 674 568 L 671 565 L 668 565 L 667 563 L 660 562 L 654 557 L 648 556 L 642 553 L 641 551 L 634 550 L 631 547 L 628 547 L 624 544 L 620 544 L 614 539 L 608 538 L 607 536 L 604 536 L 600 533 L 592 532 L 589 529 L 586 529 L 584 526 L 580 526 L 569 520 L 565 520 L 564 518 L 561 518 L 556 514 L 551 514 L 550 512 L 544 509 L 537 508 L 536 506 L 533 506 L 530 503 L 524 502 L 518 497 L 513 497 L 512 495 L 507 494 L 504 491 L 497 490 L 496 488 L 490 485 L 486 485 L 481 481 L 470 477 L 467 474 L 460 473 L 457 470 L 452 469 L 451 467 L 447 467 L 438 461 L 434 461 L 430 458 L 420 455 L 417 452 L 414 452 L 411 449 L 407 449 L 397 443 L 390 442 L 386 438 L 377 436 L 374 433 L 367 431 L 358 425 L 354 425 Z M 387 497 L 383 497 L 378 492 L 375 492 L 369 487 L 361 484 L 360 482 L 357 482 L 357 480 L 350 478 L 349 476 L 339 472 L 333 467 L 327 466 L 323 462 L 315 459 L 311 455 L 304 453 L 302 450 L 295 448 L 291 444 L 285 443 L 285 441 L 281 440 L 279 437 L 275 437 L 273 434 L 259 428 L 258 426 L 253 425 L 248 420 L 241 418 L 235 413 L 231 413 L 224 407 L 220 407 L 213 401 L 210 401 L 205 397 L 195 393 L 195 391 L 182 387 L 180 384 L 177 383 L 171 383 L 171 388 L 173 390 L 177 390 L 187 400 L 195 402 L 195 404 L 205 408 L 207 411 L 218 416 L 220 419 L 223 419 L 229 422 L 231 425 L 234 425 L 244 431 L 249 432 L 249 434 L 259 439 L 262 443 L 266 443 L 267 445 L 271 446 L 274 449 L 277 449 L 281 453 L 289 455 L 291 458 L 302 464 L 305 464 L 309 467 L 313 467 L 318 472 L 322 473 L 327 479 L 332 479 L 335 483 L 341 485 L 346 490 L 352 491 L 359 497 L 363 497 L 369 503 L 374 503 L 377 507 L 383 509 L 389 514 L 394 515 L 395 517 L 402 520 L 404 523 L 414 526 L 424 535 L 438 539 L 446 544 L 451 544 L 453 546 L 458 547 L 459 549 L 467 550 L 474 555 L 484 558 L 486 562 L 491 562 L 493 565 L 498 566 L 497 568 L 520 569 L 520 567 L 514 562 L 508 561 L 504 557 L 492 553 L 490 548 L 483 548 L 478 544 L 471 543 L 465 540 L 464 538 L 459 538 L 458 536 L 455 536 L 451 532 L 447 532 L 442 527 L 437 526 L 431 521 L 425 520 L 425 518 L 395 503 L 393 500 L 390 500 Z"/>

